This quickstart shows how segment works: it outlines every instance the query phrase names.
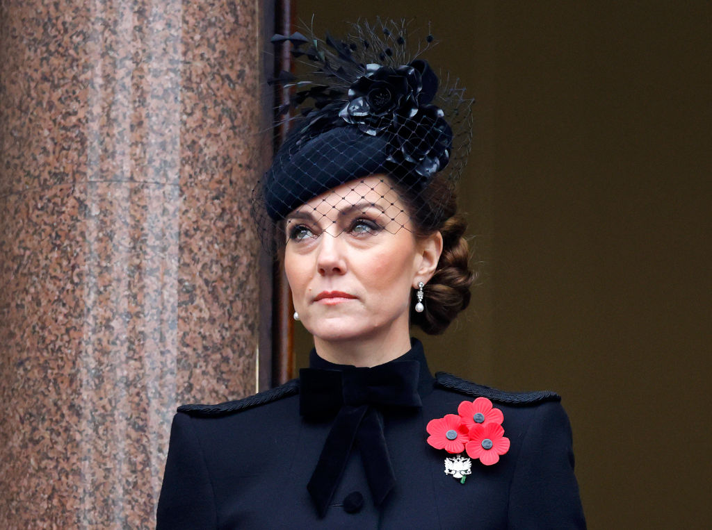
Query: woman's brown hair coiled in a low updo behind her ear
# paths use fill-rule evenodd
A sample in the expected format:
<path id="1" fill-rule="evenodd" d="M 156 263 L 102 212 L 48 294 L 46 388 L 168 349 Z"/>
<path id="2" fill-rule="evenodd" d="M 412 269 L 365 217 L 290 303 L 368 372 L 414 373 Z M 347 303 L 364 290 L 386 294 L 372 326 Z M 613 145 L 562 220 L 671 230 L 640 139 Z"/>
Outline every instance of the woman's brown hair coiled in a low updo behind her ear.
<path id="1" fill-rule="evenodd" d="M 412 196 L 412 191 L 396 186 L 401 194 Z M 446 194 L 446 200 L 443 196 Z M 435 179 L 431 186 L 422 191 L 417 198 L 419 203 L 414 208 L 410 220 L 417 237 L 425 237 L 439 231 L 443 238 L 443 250 L 435 272 L 423 287 L 425 309 L 416 312 L 410 304 L 410 322 L 430 335 L 441 334 L 447 329 L 457 314 L 470 303 L 470 286 L 475 280 L 475 273 L 470 269 L 470 251 L 464 233 L 467 223 L 464 216 L 457 212 L 454 191 L 446 184 Z M 439 211 L 433 211 L 431 205 L 439 205 Z"/>

